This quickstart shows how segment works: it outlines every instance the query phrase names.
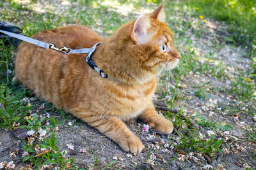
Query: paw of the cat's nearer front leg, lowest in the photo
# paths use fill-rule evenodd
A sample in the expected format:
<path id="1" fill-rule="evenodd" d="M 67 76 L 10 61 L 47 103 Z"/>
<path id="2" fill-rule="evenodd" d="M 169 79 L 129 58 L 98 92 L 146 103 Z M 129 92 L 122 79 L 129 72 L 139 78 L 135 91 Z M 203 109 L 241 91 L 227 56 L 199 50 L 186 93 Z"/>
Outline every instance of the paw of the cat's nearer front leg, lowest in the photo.
<path id="1" fill-rule="evenodd" d="M 118 145 L 125 151 L 131 153 L 140 153 L 143 145 L 137 136 L 129 136 L 129 138 L 118 142 Z"/>

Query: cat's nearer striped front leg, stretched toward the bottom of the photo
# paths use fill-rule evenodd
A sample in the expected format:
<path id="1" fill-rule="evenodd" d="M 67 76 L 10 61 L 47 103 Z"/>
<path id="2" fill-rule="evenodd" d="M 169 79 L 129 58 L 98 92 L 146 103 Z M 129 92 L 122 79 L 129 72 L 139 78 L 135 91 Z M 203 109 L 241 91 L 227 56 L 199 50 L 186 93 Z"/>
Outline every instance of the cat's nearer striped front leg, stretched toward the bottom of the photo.
<path id="1" fill-rule="evenodd" d="M 102 134 L 113 139 L 125 152 L 140 153 L 143 145 L 117 117 L 96 117 L 95 115 L 79 115 L 84 122 L 98 129 Z"/>

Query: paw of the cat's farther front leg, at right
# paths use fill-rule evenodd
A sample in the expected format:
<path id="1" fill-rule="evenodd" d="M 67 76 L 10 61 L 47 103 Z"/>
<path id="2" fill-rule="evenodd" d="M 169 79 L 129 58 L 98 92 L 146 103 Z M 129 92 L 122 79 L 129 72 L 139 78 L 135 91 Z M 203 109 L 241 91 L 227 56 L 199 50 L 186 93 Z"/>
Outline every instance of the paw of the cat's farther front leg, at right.
<path id="1" fill-rule="evenodd" d="M 167 134 L 171 134 L 173 131 L 173 124 L 170 120 L 167 120 L 166 118 L 161 118 L 157 122 L 152 122 L 149 124 L 151 127 L 154 127 L 154 129 L 157 132 L 164 132 Z"/>

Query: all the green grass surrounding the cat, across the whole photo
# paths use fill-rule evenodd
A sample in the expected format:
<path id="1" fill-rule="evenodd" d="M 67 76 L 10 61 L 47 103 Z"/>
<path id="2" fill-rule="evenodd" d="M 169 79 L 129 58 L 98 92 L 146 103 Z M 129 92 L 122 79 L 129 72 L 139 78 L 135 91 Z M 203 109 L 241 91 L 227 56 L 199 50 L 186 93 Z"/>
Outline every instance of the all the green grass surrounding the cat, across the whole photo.
<path id="1" fill-rule="evenodd" d="M 31 5 L 36 2 L 38 1 L 31 1 Z M 191 115 L 187 115 L 187 118 L 182 117 L 182 115 L 186 115 L 186 111 L 184 111 L 184 108 L 186 108 L 185 103 L 190 102 L 191 96 L 188 95 L 186 89 L 180 89 L 179 83 L 184 83 L 184 76 L 189 77 L 189 72 L 198 72 L 199 76 L 211 76 L 224 83 L 227 80 L 230 81 L 230 89 L 216 88 L 210 92 L 207 91 L 209 84 L 196 84 L 194 82 L 192 91 L 195 92 L 195 95 L 193 97 L 200 99 L 201 102 L 206 102 L 207 99 L 211 98 L 211 93 L 222 93 L 225 96 L 236 96 L 241 101 L 241 104 L 238 104 L 236 107 L 225 106 L 225 103 L 223 103 L 223 107 L 225 106 L 224 111 L 227 111 L 228 116 L 241 111 L 244 103 L 248 104 L 249 111 L 246 113 L 247 115 L 255 113 L 255 108 L 252 106 L 255 103 L 255 94 L 253 92 L 255 92 L 256 81 L 255 1 L 118 0 L 116 4 L 116 1 L 106 3 L 104 0 L 72 0 L 70 3 L 74 8 L 68 8 L 65 13 L 55 13 L 51 10 L 39 13 L 33 10 L 29 4 L 5 0 L 0 2 L 0 20 L 20 25 L 28 36 L 44 29 L 54 29 L 68 24 L 87 25 L 102 35 L 109 35 L 120 25 L 136 18 L 134 11 L 140 11 L 141 8 L 154 10 L 159 4 L 164 3 L 168 25 L 175 34 L 175 45 L 179 46 L 177 48 L 182 55 L 179 67 L 171 72 L 164 72 L 159 78 L 160 85 L 157 89 L 157 94 L 160 96 L 159 100 L 164 100 L 168 108 L 180 108 L 177 114 L 165 113 L 166 117 L 170 118 L 170 120 L 175 120 L 173 125 L 177 129 L 177 135 L 179 136 L 179 141 L 175 143 L 173 141 L 176 141 L 177 136 L 172 138 L 170 141 L 172 145 L 183 152 L 205 153 L 211 157 L 216 157 L 216 155 L 221 153 L 223 141 L 218 140 L 218 136 L 205 136 L 204 139 L 200 139 L 200 133 L 193 128 L 191 120 L 195 121 L 195 124 L 200 128 L 211 129 L 214 132 L 231 131 L 233 129 L 230 124 L 208 120 L 198 115 L 198 113 L 196 117 Z M 132 10 L 134 11 L 129 11 L 126 14 L 117 11 L 120 7 L 129 8 L 129 6 L 133 6 Z M 137 13 L 143 13 L 143 11 Z M 215 37 L 214 41 L 216 42 L 213 46 L 209 47 L 211 48 L 209 53 L 204 56 L 196 53 L 195 49 L 198 46 L 193 45 L 193 40 L 188 35 L 188 32 L 191 31 L 195 38 L 198 39 L 209 36 L 209 31 L 202 25 L 204 22 L 198 18 L 200 15 L 204 16 L 207 22 L 212 20 L 224 21 L 228 29 L 228 34 L 223 35 L 223 42 L 218 45 L 217 39 L 219 37 Z M 179 45 L 179 43 L 182 43 L 182 45 Z M 250 48 L 250 52 L 247 52 L 245 57 L 250 59 L 250 67 L 252 69 L 244 73 L 239 68 L 236 68 L 236 73 L 227 73 L 224 70 L 229 65 L 225 64 L 221 56 L 217 55 L 217 57 L 214 57 L 213 53 L 218 53 L 224 46 L 236 48 L 239 45 Z M 50 125 L 46 124 L 47 120 L 45 117 L 39 118 L 37 115 L 34 115 L 31 118 L 26 118 L 31 114 L 29 111 L 35 110 L 36 103 L 39 101 L 31 103 L 31 106 L 29 106 L 29 103 L 21 101 L 24 97 L 33 97 L 33 93 L 31 90 L 20 87 L 19 83 L 11 81 L 16 51 L 17 48 L 5 46 L 4 42 L 0 41 L 0 127 L 12 130 L 17 129 L 18 127 L 15 124 L 20 123 L 20 127 L 26 130 L 36 131 L 38 128 L 56 129 L 59 123 L 54 118 L 51 118 Z M 173 86 L 170 87 L 169 83 L 172 83 Z M 65 111 L 58 110 L 54 105 L 47 102 L 45 102 L 45 108 L 40 111 L 42 114 L 47 111 L 58 113 L 60 119 L 67 117 Z M 50 132 L 48 131 L 48 133 Z M 246 133 L 248 134 L 248 140 L 255 141 L 255 127 L 253 127 L 253 131 L 246 131 Z M 36 138 L 33 145 L 30 145 L 28 141 L 24 141 L 23 148 L 29 155 L 24 157 L 23 161 L 33 165 L 35 169 L 50 163 L 62 169 L 75 167 L 75 160 L 65 158 L 64 153 L 60 151 L 57 145 L 58 139 L 55 137 L 55 132 L 52 132 L 44 141 Z M 36 157 L 39 154 L 36 152 L 38 146 L 49 150 L 49 152 Z M 99 157 L 93 149 L 92 152 L 94 157 L 93 167 L 97 167 L 100 164 Z M 104 168 L 113 166 L 115 162 L 116 160 L 110 162 Z"/>

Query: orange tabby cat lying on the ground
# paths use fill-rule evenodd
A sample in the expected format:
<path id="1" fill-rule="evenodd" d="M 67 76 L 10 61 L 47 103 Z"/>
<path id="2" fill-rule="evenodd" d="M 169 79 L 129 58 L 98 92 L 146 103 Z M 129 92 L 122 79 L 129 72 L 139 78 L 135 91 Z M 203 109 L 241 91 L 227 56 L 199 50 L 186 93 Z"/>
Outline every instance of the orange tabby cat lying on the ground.
<path id="1" fill-rule="evenodd" d="M 42 31 L 33 38 L 72 49 L 102 41 L 92 60 L 108 74 L 102 78 L 93 70 L 86 54 L 66 55 L 22 43 L 15 76 L 36 96 L 99 129 L 126 152 L 139 153 L 143 145 L 124 120 L 140 117 L 156 131 L 172 133 L 172 122 L 158 115 L 152 103 L 157 73 L 164 66 L 172 69 L 180 58 L 164 23 L 163 6 L 122 25 L 105 39 L 81 25 Z"/>

